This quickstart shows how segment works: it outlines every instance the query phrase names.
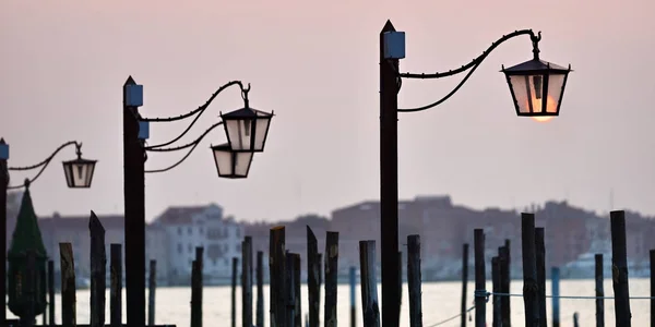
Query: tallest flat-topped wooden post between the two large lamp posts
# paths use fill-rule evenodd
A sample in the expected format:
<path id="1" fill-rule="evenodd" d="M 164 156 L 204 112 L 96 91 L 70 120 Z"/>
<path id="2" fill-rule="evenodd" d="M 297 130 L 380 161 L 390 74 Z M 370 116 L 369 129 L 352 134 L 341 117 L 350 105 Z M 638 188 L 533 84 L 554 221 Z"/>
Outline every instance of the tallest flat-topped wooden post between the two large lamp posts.
<path id="1" fill-rule="evenodd" d="M 286 324 L 286 284 L 285 284 L 285 229 L 274 227 L 269 238 L 269 284 L 271 301 L 271 327 L 287 327 Z"/>

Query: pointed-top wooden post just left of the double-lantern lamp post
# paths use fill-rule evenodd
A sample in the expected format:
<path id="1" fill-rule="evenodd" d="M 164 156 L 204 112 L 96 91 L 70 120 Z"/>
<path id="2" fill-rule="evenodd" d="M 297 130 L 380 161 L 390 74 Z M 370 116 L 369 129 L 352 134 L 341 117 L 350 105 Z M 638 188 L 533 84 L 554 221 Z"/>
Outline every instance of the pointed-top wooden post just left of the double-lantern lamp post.
<path id="1" fill-rule="evenodd" d="M 107 290 L 107 254 L 105 253 L 105 228 L 91 211 L 91 327 L 105 326 L 105 291 Z"/>

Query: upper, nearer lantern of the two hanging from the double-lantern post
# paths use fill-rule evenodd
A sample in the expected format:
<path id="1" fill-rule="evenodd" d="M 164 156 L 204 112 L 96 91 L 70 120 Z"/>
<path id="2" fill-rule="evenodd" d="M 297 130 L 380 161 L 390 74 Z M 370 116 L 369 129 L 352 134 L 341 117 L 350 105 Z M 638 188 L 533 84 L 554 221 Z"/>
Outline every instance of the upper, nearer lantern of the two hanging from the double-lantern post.
<path id="1" fill-rule="evenodd" d="M 228 112 L 221 113 L 225 124 L 225 134 L 230 148 L 235 152 L 254 152 L 264 150 L 266 135 L 273 113 L 251 109 L 246 102 L 246 107 Z"/>

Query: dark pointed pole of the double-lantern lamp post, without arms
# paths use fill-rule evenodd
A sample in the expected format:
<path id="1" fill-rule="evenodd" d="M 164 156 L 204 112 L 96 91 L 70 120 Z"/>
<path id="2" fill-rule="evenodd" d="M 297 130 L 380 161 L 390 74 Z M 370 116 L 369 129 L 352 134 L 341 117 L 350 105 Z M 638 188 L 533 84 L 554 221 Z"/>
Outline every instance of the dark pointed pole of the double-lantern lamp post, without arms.
<path id="1" fill-rule="evenodd" d="M 128 106 L 123 85 L 123 183 L 128 325 L 145 326 L 145 150 L 139 140 L 138 107 Z"/>

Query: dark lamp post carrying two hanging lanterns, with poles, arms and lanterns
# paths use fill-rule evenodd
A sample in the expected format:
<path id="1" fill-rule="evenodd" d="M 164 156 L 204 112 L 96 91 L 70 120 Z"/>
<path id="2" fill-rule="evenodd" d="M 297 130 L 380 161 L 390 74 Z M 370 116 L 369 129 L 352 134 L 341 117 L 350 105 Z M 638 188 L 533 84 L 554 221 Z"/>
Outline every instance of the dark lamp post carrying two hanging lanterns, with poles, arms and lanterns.
<path id="1" fill-rule="evenodd" d="M 221 113 L 223 121 L 210 126 L 195 141 L 176 147 L 166 147 L 180 140 L 223 90 L 239 86 L 243 108 Z M 221 86 L 198 109 L 172 118 L 143 118 L 139 107 L 143 106 L 143 86 L 130 76 L 123 85 L 123 182 L 124 182 L 124 238 L 126 238 L 126 290 L 128 325 L 145 326 L 145 173 L 165 172 L 182 164 L 200 142 L 215 128 L 223 125 L 228 142 L 211 146 L 219 178 L 245 179 L 250 171 L 254 153 L 264 150 L 273 113 L 250 108 L 248 93 L 239 81 Z M 172 122 L 195 117 L 189 126 L 174 140 L 146 146 L 150 122 Z M 177 152 L 189 148 L 187 155 L 176 164 L 155 170 L 145 170 L 146 152 Z"/>

